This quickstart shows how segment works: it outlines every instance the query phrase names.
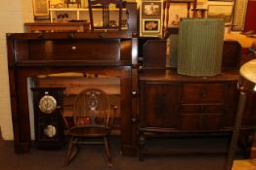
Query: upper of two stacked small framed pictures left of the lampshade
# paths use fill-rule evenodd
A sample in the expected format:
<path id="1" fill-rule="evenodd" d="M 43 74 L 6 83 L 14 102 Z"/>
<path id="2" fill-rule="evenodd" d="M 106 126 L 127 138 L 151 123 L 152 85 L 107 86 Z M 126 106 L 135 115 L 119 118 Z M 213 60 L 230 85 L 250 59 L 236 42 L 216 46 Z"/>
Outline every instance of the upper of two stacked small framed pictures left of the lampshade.
<path id="1" fill-rule="evenodd" d="M 142 1 L 142 17 L 161 17 L 161 2 Z"/>

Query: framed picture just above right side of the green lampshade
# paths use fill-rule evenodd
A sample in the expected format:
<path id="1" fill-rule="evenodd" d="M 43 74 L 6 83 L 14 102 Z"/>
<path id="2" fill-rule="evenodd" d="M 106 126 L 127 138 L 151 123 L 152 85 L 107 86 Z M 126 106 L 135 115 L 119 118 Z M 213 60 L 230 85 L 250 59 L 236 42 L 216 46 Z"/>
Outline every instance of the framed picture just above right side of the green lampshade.
<path id="1" fill-rule="evenodd" d="M 234 5 L 209 5 L 208 16 L 210 18 L 223 18 L 226 23 L 232 23 Z"/>

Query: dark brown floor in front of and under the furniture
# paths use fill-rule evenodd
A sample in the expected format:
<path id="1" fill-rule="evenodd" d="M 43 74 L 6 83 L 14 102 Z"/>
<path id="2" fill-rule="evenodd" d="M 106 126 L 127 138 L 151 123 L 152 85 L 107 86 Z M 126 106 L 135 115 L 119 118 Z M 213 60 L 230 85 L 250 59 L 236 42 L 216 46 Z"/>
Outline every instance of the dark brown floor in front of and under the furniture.
<path id="1" fill-rule="evenodd" d="M 224 139 L 179 139 L 151 140 L 150 150 L 225 150 Z M 188 145 L 188 143 L 190 145 Z M 106 156 L 102 146 L 85 146 L 68 166 L 64 166 L 64 149 L 42 151 L 33 148 L 31 153 L 14 153 L 13 141 L 0 140 L 1 170 L 107 170 Z M 113 167 L 111 170 L 222 170 L 225 155 L 172 155 L 146 156 L 139 161 L 138 156 L 121 155 L 119 138 L 111 140 Z M 233 170 L 256 170 L 256 159 L 237 156 Z"/>

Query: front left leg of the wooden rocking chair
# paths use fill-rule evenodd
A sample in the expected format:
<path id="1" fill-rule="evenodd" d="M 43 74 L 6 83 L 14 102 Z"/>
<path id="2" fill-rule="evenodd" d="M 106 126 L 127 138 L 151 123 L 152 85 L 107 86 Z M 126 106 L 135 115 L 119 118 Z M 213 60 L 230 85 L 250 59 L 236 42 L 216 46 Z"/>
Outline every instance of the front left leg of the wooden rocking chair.
<path id="1" fill-rule="evenodd" d="M 76 144 L 77 141 L 78 141 L 77 138 L 74 138 L 74 137 L 70 138 L 67 146 L 64 165 L 68 165 L 71 162 L 71 160 L 74 158 L 74 156 L 78 153 L 78 147 Z"/>

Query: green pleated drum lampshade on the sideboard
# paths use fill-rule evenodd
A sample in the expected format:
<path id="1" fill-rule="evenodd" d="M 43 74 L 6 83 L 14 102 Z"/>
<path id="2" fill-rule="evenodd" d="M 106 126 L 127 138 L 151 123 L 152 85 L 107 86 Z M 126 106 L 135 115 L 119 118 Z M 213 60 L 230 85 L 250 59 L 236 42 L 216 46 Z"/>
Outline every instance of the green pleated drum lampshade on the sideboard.
<path id="1" fill-rule="evenodd" d="M 215 76 L 221 72 L 223 19 L 184 18 L 178 38 L 178 73 Z"/>

